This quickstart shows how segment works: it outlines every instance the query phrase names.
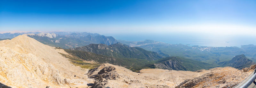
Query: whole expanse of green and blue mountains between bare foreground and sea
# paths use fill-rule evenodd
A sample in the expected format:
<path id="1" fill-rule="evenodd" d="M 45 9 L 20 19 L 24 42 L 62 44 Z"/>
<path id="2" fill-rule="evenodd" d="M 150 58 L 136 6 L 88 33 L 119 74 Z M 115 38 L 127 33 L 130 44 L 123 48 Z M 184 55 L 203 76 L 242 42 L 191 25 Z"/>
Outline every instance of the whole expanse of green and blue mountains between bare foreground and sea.
<path id="1" fill-rule="evenodd" d="M 35 33 L 35 34 L 34 34 Z M 167 44 L 163 42 L 145 40 L 145 41 L 122 41 L 116 40 L 112 36 L 103 36 L 97 33 L 87 32 L 52 32 L 52 33 L 40 33 L 30 32 L 26 33 L 4 33 L 0 34 L 0 38 L 13 38 L 18 35 L 27 35 L 36 39 L 37 41 L 64 49 L 70 49 L 75 51 L 92 52 L 97 55 L 104 55 L 113 58 L 106 63 L 120 63 L 132 61 L 127 64 L 129 68 L 141 69 L 141 68 L 164 68 L 164 69 L 176 69 L 176 70 L 197 70 L 208 69 L 213 67 L 223 67 L 222 63 L 228 63 L 236 55 L 244 54 L 249 60 L 255 61 L 256 59 L 256 46 L 255 45 L 242 45 L 239 47 L 207 47 L 207 46 L 189 46 L 183 44 Z M 1 39 L 4 40 L 4 39 Z M 120 42 L 120 43 L 118 43 Z M 85 53 L 83 52 L 83 53 Z M 79 52 L 81 53 L 81 52 Z M 168 57 L 178 57 L 177 59 L 167 59 Z M 164 58 L 164 59 L 162 59 Z M 137 60 L 136 60 L 137 59 Z M 125 61 L 124 61 L 125 60 Z M 161 60 L 159 62 L 156 62 Z M 163 62 L 163 60 L 166 60 Z M 175 61 L 174 61 L 175 60 Z M 191 61 L 190 61 L 191 60 Z M 193 60 L 193 61 L 192 61 Z M 139 63 L 141 65 L 137 65 Z M 174 63 L 174 62 L 175 63 Z M 247 60 L 246 60 L 247 61 Z M 245 61 L 245 62 L 246 62 Z M 184 62 L 189 62 L 184 65 Z M 195 63 L 204 63 L 198 66 L 189 66 Z M 178 67 L 168 65 L 175 64 Z M 209 67 L 205 67 L 206 64 Z M 155 64 L 155 65 L 152 65 Z M 251 63 L 244 63 L 247 66 Z M 115 65 L 124 65 L 115 64 Z M 134 65 L 130 67 L 129 65 Z M 157 67 L 159 66 L 159 67 Z M 184 67 L 186 66 L 186 67 Z M 234 66 L 233 66 L 234 67 Z M 242 66 L 244 68 L 246 66 Z M 239 68 L 240 67 L 235 67 Z"/>

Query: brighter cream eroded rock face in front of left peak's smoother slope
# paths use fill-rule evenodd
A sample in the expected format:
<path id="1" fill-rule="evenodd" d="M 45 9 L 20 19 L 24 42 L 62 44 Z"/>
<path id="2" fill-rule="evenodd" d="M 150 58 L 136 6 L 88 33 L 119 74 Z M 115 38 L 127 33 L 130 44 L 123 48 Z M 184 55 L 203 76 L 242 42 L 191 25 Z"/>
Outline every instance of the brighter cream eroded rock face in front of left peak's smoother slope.
<path id="1" fill-rule="evenodd" d="M 0 81 L 7 82 L 6 85 L 15 83 L 16 87 L 34 88 L 37 85 L 48 84 L 52 86 L 55 84 L 69 85 L 69 81 L 64 80 L 65 78 L 60 76 L 57 69 L 38 59 L 35 55 L 21 54 L 5 47 L 0 47 L 0 50 L 0 70 L 2 72 Z"/>

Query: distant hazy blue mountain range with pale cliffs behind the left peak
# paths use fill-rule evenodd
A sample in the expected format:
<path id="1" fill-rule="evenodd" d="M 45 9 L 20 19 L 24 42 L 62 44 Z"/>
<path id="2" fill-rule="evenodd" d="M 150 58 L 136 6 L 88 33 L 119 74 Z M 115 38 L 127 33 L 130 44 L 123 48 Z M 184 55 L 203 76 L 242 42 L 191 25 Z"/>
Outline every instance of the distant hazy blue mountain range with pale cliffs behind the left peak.
<path id="1" fill-rule="evenodd" d="M 112 36 L 103 36 L 97 33 L 87 32 L 28 32 L 28 33 L 4 33 L 0 34 L 0 39 L 13 38 L 19 35 L 27 35 L 37 41 L 54 47 L 61 48 L 76 48 L 89 44 L 115 44 L 117 40 Z"/>

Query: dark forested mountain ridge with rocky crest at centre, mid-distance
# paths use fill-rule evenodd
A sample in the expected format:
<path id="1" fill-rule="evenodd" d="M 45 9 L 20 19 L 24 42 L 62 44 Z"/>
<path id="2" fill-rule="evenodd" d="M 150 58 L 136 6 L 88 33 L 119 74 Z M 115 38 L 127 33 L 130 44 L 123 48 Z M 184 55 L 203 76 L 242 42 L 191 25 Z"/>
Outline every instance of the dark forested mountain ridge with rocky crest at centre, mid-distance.
<path id="1" fill-rule="evenodd" d="M 86 52 L 93 52 L 105 56 L 116 58 L 132 58 L 144 60 L 157 60 L 163 58 L 157 52 L 146 51 L 139 47 L 130 47 L 125 44 L 116 43 L 111 45 L 106 44 L 90 44 L 83 47 L 72 48 L 70 50 L 79 50 Z"/>

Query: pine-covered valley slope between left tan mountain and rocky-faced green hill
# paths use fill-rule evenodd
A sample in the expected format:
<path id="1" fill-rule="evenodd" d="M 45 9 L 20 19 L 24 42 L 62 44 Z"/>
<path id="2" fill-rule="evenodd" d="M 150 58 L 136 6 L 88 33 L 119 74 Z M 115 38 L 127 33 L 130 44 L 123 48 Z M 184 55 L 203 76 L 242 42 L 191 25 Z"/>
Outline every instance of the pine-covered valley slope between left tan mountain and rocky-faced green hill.
<path id="1" fill-rule="evenodd" d="M 142 68 L 148 68 L 148 60 L 143 59 L 132 59 L 132 58 L 115 58 L 109 57 L 105 55 L 95 54 L 92 52 L 85 52 L 85 51 L 76 51 L 76 50 L 68 50 L 64 49 L 66 52 L 70 53 L 71 55 L 78 57 L 81 60 L 87 61 L 95 61 L 99 64 L 103 63 L 110 63 L 113 65 L 123 66 L 125 68 L 131 69 L 132 71 L 139 71 Z M 71 57 L 69 57 L 71 58 Z M 71 58 L 72 59 L 72 58 Z M 78 60 L 79 61 L 79 60 Z"/>

